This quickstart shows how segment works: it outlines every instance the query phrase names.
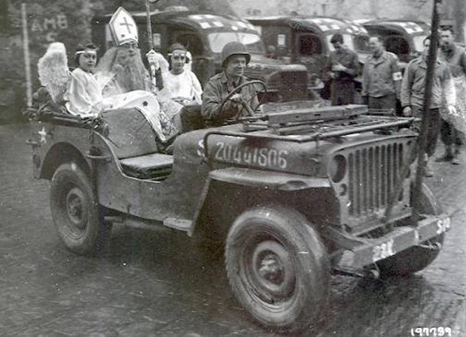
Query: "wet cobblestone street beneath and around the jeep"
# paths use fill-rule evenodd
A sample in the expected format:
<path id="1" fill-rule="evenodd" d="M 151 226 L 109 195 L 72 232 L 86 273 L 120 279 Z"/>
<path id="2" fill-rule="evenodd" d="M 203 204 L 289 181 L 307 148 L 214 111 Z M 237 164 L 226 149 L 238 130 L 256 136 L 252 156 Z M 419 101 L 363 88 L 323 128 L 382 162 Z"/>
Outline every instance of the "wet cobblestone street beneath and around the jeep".
<path id="1" fill-rule="evenodd" d="M 27 124 L 0 125 L 0 336 L 276 336 L 236 302 L 222 260 L 194 254 L 187 235 L 114 226 L 105 254 L 67 251 L 49 183 L 33 178 L 28 137 Z M 325 318 L 305 336 L 412 336 L 416 327 L 466 336 L 461 159 L 435 163 L 426 180 L 452 214 L 437 260 L 405 279 L 332 276 Z"/>

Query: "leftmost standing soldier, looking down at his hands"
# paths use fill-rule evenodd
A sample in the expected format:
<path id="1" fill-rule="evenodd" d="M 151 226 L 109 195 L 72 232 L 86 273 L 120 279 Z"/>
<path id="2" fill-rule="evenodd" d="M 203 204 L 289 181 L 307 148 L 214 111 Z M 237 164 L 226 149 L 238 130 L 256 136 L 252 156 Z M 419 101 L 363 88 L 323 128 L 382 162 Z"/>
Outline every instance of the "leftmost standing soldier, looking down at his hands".
<path id="1" fill-rule="evenodd" d="M 361 71 L 358 55 L 343 45 L 341 34 L 333 35 L 330 42 L 335 50 L 331 52 L 325 69 L 332 79 L 331 104 L 354 104 L 354 77 Z"/>

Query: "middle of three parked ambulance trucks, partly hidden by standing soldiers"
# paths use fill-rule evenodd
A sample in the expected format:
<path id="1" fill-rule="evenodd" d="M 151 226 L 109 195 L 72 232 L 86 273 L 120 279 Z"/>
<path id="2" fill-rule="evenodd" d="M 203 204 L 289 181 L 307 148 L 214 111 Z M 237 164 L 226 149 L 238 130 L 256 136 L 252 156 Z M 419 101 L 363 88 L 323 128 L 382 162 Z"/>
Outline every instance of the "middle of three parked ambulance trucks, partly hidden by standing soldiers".
<path id="1" fill-rule="evenodd" d="M 368 33 L 363 26 L 333 17 L 247 17 L 260 31 L 267 47 L 274 46 L 277 57 L 289 63 L 306 65 L 316 89 L 322 89 L 326 77 L 324 68 L 333 45 L 331 36 L 341 33 L 345 45 L 359 54 L 359 61 L 366 60 Z M 358 79 L 356 84 L 361 87 Z"/>

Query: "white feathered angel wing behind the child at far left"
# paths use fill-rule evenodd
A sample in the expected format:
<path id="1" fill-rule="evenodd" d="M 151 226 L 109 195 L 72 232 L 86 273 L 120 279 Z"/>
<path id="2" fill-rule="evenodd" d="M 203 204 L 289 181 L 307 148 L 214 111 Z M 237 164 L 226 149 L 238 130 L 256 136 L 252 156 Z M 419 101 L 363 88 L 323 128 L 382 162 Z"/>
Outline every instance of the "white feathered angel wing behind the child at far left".
<path id="1" fill-rule="evenodd" d="M 54 102 L 60 103 L 70 77 L 65 45 L 61 42 L 51 43 L 44 56 L 39 58 L 37 70 L 40 84 L 47 88 Z"/>

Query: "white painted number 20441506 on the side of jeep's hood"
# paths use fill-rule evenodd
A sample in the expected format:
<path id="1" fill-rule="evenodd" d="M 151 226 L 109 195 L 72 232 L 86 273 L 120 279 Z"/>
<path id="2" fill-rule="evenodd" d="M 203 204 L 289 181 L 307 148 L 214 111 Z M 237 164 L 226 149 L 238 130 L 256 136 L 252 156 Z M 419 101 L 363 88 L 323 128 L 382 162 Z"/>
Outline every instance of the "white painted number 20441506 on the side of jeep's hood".
<path id="1" fill-rule="evenodd" d="M 218 141 L 213 149 L 215 159 L 219 162 L 233 162 L 239 165 L 286 169 L 288 166 L 287 150 L 273 148 L 249 148 Z"/>

